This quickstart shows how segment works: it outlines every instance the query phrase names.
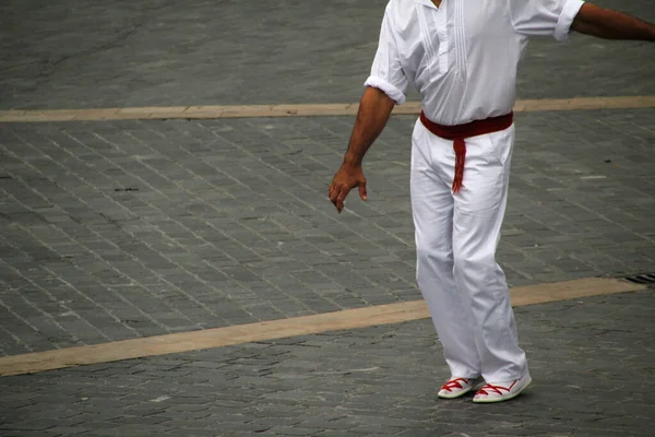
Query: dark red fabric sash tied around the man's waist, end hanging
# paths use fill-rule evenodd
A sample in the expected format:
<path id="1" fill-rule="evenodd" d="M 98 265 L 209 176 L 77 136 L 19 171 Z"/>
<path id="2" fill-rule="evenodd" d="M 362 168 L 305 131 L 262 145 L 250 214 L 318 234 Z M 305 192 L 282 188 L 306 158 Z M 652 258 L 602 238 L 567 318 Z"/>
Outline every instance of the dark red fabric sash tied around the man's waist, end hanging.
<path id="1" fill-rule="evenodd" d="M 466 160 L 466 142 L 471 137 L 484 135 L 508 129 L 514 122 L 514 113 L 500 117 L 491 117 L 486 120 L 475 120 L 465 125 L 444 126 L 430 121 L 426 115 L 420 113 L 420 122 L 427 130 L 443 138 L 453 140 L 455 151 L 455 178 L 453 179 L 453 192 L 460 191 L 464 180 L 464 162 Z"/>

